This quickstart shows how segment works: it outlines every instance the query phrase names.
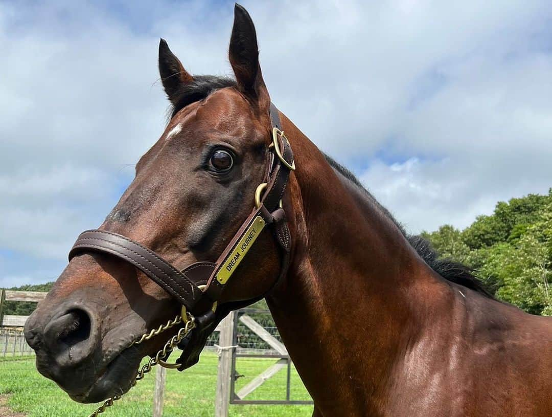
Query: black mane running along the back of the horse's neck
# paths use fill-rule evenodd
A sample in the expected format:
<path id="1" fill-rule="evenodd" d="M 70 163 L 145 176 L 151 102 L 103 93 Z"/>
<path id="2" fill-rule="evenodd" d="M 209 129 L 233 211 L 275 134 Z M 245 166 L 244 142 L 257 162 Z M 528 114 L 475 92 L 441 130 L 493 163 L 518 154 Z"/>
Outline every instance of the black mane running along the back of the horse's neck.
<path id="1" fill-rule="evenodd" d="M 473 268 L 463 265 L 460 262 L 455 262 L 449 258 L 440 258 L 438 252 L 433 249 L 431 243 L 419 235 L 411 235 L 406 233 L 406 230 L 402 224 L 397 221 L 388 209 L 383 207 L 378 200 L 363 186 L 354 174 L 346 167 L 336 162 L 332 157 L 324 154 L 326 161 L 330 166 L 339 172 L 348 181 L 352 182 L 357 188 L 364 192 L 364 195 L 375 204 L 381 212 L 383 212 L 396 226 L 401 233 L 406 237 L 406 240 L 416 250 L 418 255 L 427 263 L 427 265 L 441 277 L 447 281 L 454 282 L 463 287 L 472 289 L 478 293 L 485 295 L 485 297 L 493 298 L 491 293 L 485 288 L 485 284 L 477 277 Z"/>

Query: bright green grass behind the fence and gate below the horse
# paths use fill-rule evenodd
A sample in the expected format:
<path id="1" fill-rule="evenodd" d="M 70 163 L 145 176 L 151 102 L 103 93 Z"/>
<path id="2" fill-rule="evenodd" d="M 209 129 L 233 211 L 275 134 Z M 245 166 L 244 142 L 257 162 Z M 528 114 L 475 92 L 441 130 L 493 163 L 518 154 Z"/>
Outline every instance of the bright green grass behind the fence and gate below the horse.
<path id="1" fill-rule="evenodd" d="M 274 360 L 239 358 L 236 369 L 245 377 L 236 382 L 236 390 L 251 381 Z M 165 417 L 210 417 L 214 413 L 217 357 L 201 355 L 198 365 L 184 372 L 167 371 L 164 397 Z M 108 409 L 106 417 L 151 416 L 155 371 Z M 285 368 L 269 379 L 247 399 L 285 399 Z M 0 394 L 8 394 L 7 405 L 28 417 L 87 416 L 93 404 L 73 402 L 57 385 L 41 376 L 34 366 L 34 357 L 0 358 Z M 291 398 L 309 400 L 309 394 L 295 371 L 291 374 Z M 309 416 L 311 405 L 231 405 L 232 417 Z"/>

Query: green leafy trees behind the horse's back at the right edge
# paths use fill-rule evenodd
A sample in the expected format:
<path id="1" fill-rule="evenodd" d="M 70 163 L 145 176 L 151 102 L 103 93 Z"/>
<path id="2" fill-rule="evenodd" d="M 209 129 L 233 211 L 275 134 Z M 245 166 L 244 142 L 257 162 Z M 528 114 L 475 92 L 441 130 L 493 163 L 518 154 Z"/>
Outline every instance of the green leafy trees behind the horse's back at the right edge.
<path id="1" fill-rule="evenodd" d="M 461 232 L 445 225 L 422 236 L 442 257 L 476 268 L 497 298 L 552 315 L 552 189 L 499 202 Z"/>

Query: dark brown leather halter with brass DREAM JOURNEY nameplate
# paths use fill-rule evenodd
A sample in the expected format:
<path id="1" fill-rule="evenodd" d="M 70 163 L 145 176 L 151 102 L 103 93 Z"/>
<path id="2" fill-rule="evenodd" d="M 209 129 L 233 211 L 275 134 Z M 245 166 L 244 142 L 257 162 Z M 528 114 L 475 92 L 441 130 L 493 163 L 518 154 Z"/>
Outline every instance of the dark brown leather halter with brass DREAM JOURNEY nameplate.
<path id="1" fill-rule="evenodd" d="M 256 192 L 256 204 L 226 249 L 215 262 L 195 262 L 179 271 L 156 252 L 123 235 L 105 230 L 87 230 L 81 233 L 71 251 L 69 260 L 83 252 L 104 252 L 131 263 L 159 284 L 190 312 L 211 312 L 211 305 L 220 299 L 225 284 L 237 269 L 257 236 L 272 226 L 275 240 L 282 248 L 283 277 L 289 265 L 291 237 L 282 196 L 290 171 L 295 169 L 293 151 L 282 131 L 278 109 L 270 103 L 273 144 L 268 147 L 264 182 Z M 264 193 L 261 197 L 261 193 Z M 208 321 L 214 320 L 210 314 Z"/>

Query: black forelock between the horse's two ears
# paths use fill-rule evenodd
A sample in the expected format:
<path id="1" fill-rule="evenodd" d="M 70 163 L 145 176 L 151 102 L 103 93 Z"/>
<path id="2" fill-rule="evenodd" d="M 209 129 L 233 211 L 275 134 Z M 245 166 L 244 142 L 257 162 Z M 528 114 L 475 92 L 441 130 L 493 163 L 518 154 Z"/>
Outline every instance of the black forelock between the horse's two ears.
<path id="1" fill-rule="evenodd" d="M 236 81 L 230 77 L 215 75 L 194 75 L 194 81 L 185 83 L 178 88 L 175 104 L 171 105 L 168 114 L 171 118 L 189 104 L 201 101 L 214 91 L 225 88 L 235 87 Z"/>

